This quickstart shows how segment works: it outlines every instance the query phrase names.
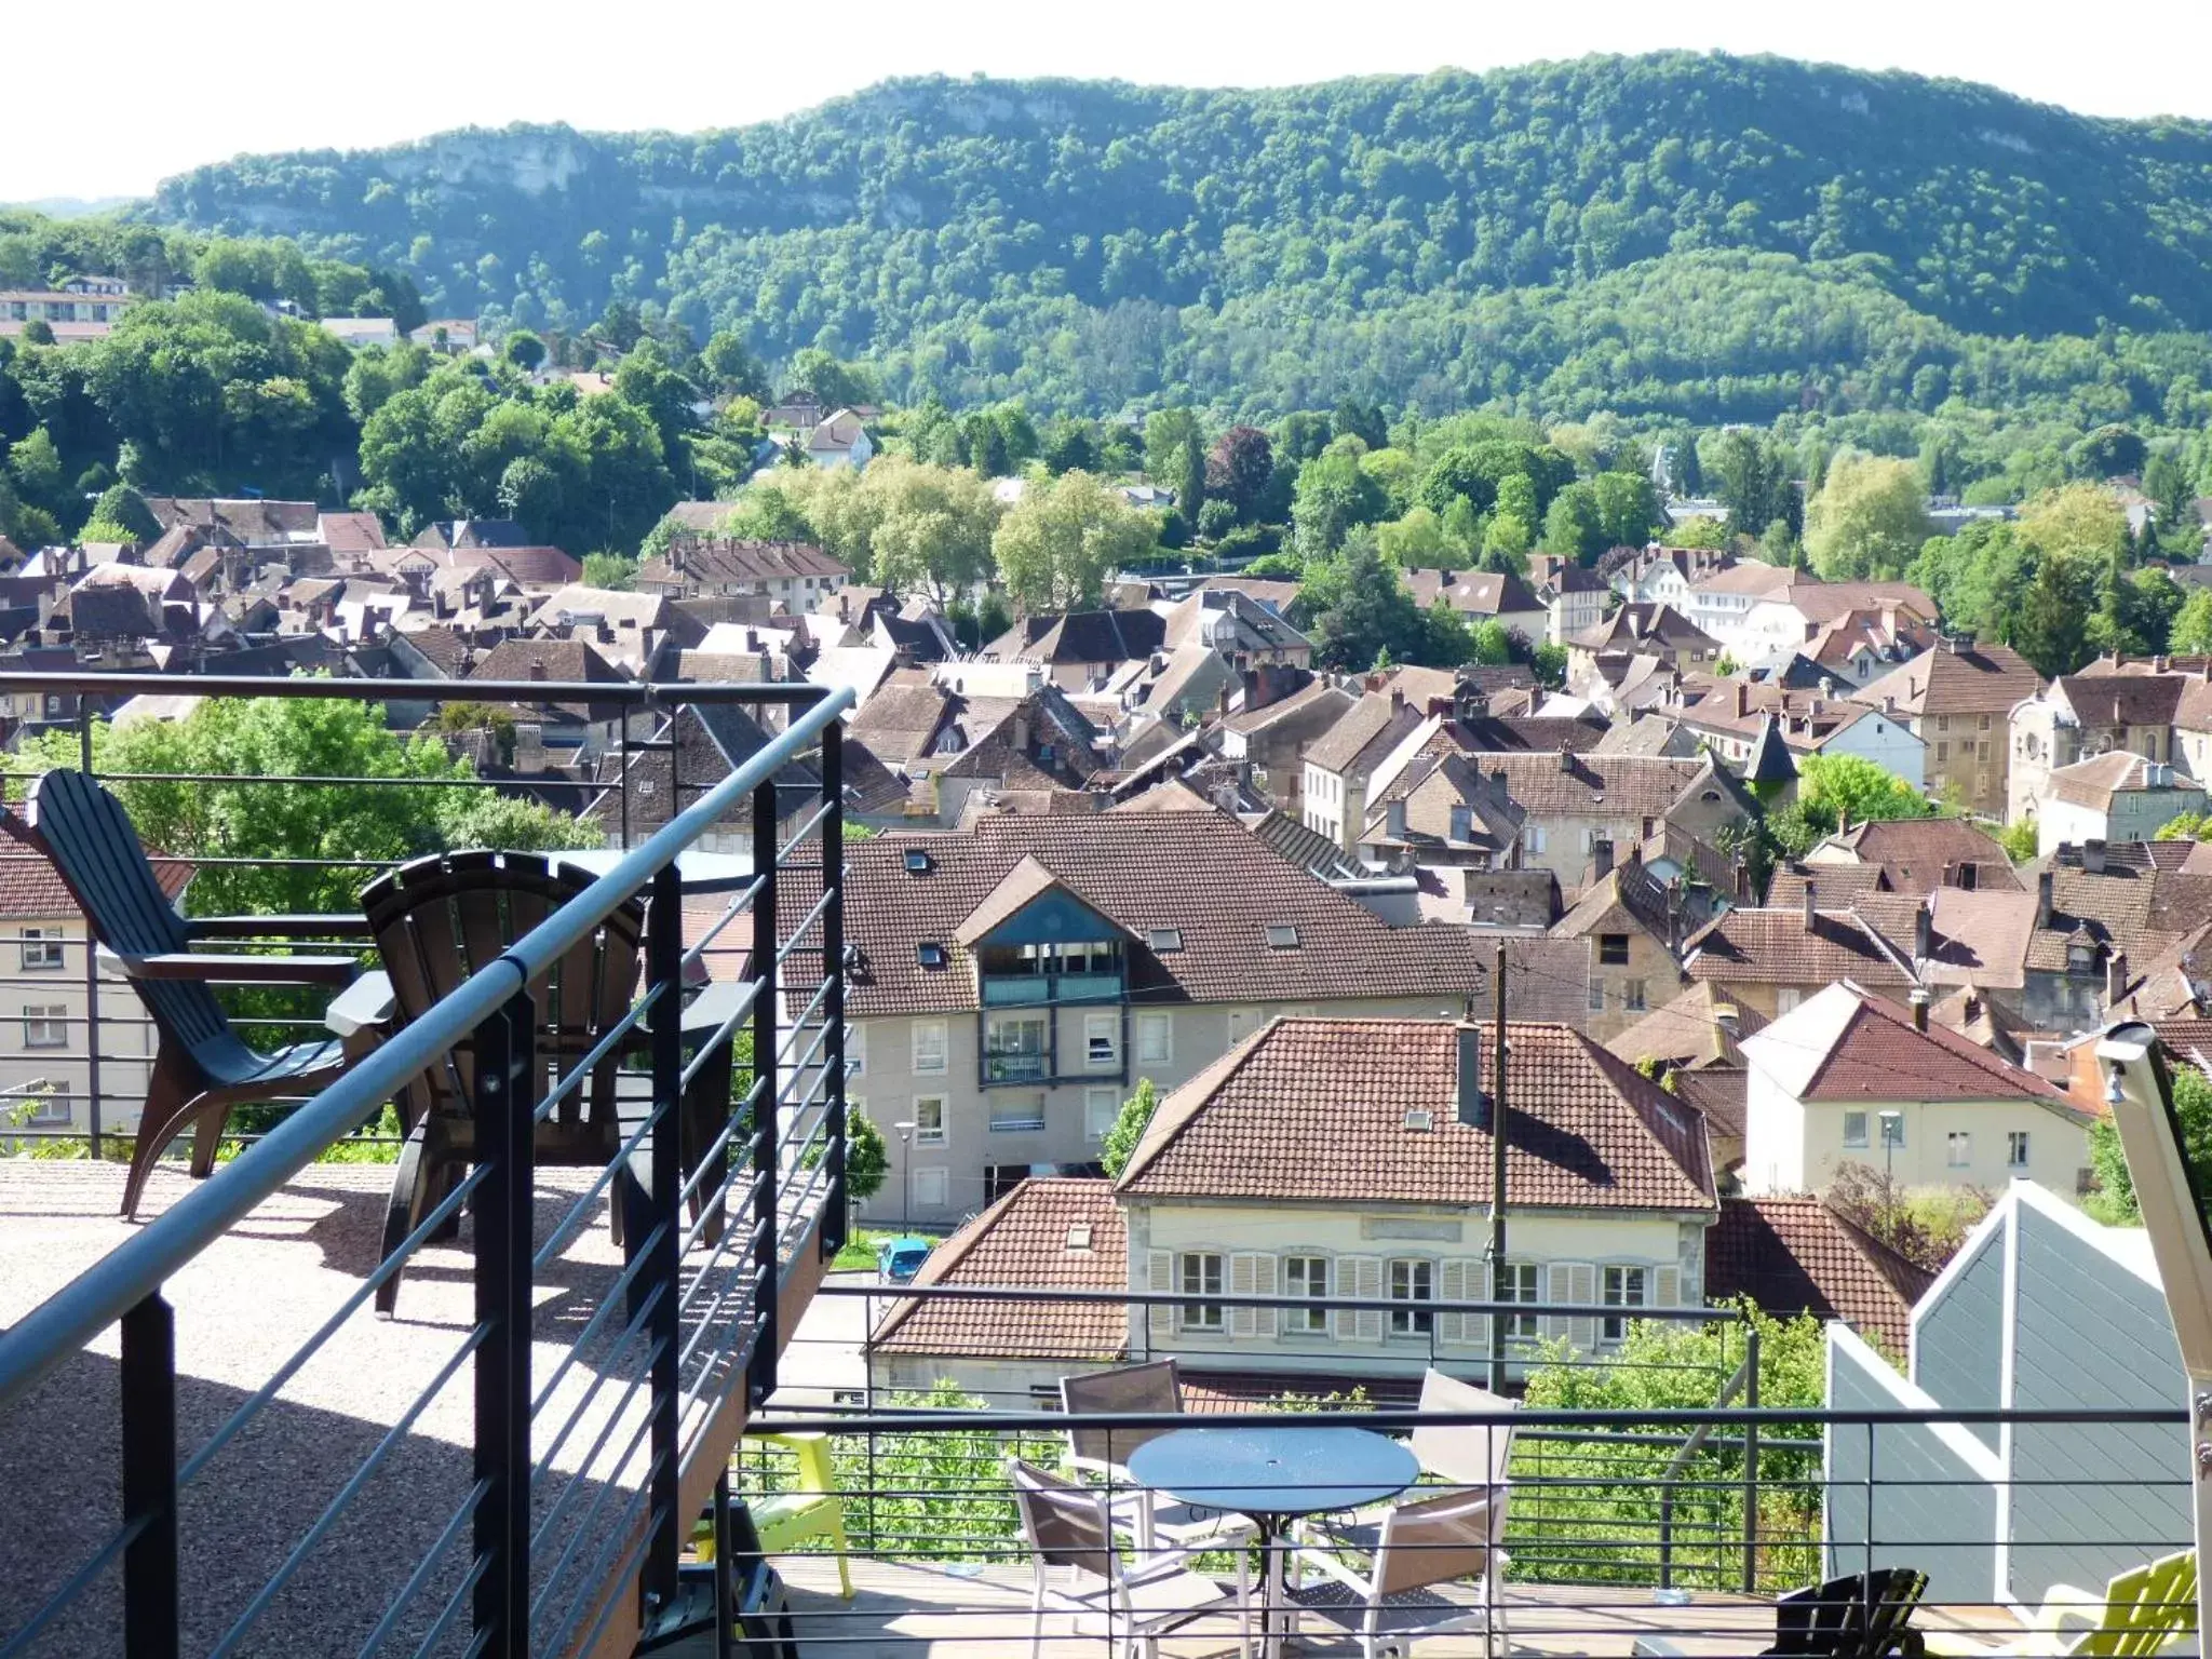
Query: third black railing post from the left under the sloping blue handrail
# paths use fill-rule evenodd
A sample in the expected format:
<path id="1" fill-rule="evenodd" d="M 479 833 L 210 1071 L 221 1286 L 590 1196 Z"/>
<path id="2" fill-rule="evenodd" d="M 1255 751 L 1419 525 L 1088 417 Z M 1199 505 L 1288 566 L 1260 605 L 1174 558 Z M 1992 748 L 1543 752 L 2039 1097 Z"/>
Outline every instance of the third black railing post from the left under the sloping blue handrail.
<path id="1" fill-rule="evenodd" d="M 684 1515 L 677 1504 L 677 1438 L 684 1411 L 684 1376 L 679 1367 L 681 1283 L 677 1256 L 684 1208 L 684 878 L 677 860 L 653 872 L 653 902 L 646 909 L 646 969 L 653 1004 L 653 1225 L 657 1239 L 653 1261 L 641 1274 L 653 1305 L 653 1502 L 659 1517 L 646 1548 L 644 1590 L 661 1606 L 677 1595 L 677 1555 L 684 1548 Z M 719 1192 L 701 1183 L 701 1201 L 719 1201 Z"/>

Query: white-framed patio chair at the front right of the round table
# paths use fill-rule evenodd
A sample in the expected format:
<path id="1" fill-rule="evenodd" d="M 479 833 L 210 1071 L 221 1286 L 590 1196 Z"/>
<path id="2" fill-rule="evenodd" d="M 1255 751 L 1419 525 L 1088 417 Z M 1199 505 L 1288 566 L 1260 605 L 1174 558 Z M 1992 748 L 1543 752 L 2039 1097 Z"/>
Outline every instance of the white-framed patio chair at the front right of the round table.
<path id="1" fill-rule="evenodd" d="M 1509 1650 L 1500 1584 L 1506 1495 L 1500 1486 L 1398 1504 L 1383 1515 L 1365 1573 L 1312 1544 L 1296 1546 L 1292 1564 L 1318 1577 L 1301 1573 L 1303 1582 L 1283 1593 L 1292 1635 L 1312 1613 L 1356 1635 L 1360 1659 L 1405 1655 L 1416 1637 L 1455 1630 L 1482 1630 L 1484 1655 Z M 1460 1579 L 1475 1582 L 1473 1601 L 1440 1590 Z"/>

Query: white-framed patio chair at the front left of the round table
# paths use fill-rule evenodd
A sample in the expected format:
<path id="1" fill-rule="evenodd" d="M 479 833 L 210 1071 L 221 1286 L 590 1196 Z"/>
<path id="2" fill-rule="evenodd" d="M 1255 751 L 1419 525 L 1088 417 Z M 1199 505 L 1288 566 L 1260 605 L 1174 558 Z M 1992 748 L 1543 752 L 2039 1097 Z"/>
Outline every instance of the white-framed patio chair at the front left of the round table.
<path id="1" fill-rule="evenodd" d="M 1183 1562 L 1190 1551 L 1137 1553 L 1121 1559 L 1106 1493 L 1075 1486 L 1048 1475 L 1020 1458 L 1006 1460 L 1013 1498 L 1022 1511 L 1022 1537 L 1029 1544 L 1035 1584 L 1029 1597 L 1029 1641 L 1044 1652 L 1044 1615 L 1048 1610 L 1102 1615 L 1108 1644 L 1148 1659 L 1159 1655 L 1159 1637 L 1179 1630 L 1210 1613 L 1237 1615 L 1237 1650 L 1252 1655 L 1252 1597 L 1243 1551 L 1237 1551 L 1237 1588 L 1223 1590 Z M 1051 1568 L 1066 1568 L 1068 1579 L 1055 1584 Z"/>

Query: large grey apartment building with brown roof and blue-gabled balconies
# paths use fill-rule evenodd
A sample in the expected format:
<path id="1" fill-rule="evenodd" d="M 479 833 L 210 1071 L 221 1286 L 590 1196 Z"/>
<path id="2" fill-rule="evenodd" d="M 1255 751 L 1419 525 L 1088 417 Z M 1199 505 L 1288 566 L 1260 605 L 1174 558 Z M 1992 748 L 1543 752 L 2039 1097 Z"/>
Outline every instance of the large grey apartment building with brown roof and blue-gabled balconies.
<path id="1" fill-rule="evenodd" d="M 1394 929 L 1212 810 L 885 836 L 847 883 L 849 1095 L 894 1161 L 876 1221 L 1095 1170 L 1141 1079 L 1170 1091 L 1279 1013 L 1436 1015 L 1484 984 L 1464 929 Z"/>

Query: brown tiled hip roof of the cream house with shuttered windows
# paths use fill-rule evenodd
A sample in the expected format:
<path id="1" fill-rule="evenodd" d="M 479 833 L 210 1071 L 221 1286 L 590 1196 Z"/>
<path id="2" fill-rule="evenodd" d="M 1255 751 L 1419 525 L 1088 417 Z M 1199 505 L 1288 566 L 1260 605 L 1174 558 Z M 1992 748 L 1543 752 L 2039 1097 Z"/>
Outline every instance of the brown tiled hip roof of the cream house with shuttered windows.
<path id="1" fill-rule="evenodd" d="M 1119 1190 L 1314 1203 L 1489 1203 L 1491 1137 L 1458 1121 L 1451 1020 L 1274 1020 L 1168 1095 Z M 1506 1024 L 1515 1203 L 1710 1210 L 1703 1119 L 1564 1024 Z M 1413 1108 L 1429 1128 L 1407 1128 Z"/>

